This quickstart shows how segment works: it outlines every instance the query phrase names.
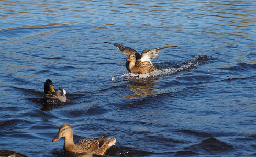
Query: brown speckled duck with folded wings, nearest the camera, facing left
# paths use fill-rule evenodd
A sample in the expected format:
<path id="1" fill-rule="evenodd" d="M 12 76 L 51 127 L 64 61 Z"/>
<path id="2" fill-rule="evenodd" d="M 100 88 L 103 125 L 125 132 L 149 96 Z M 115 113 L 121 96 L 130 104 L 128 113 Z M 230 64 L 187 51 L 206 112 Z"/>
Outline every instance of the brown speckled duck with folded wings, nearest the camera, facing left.
<path id="1" fill-rule="evenodd" d="M 60 126 L 59 132 L 52 142 L 58 141 L 60 138 L 64 137 L 63 149 L 67 152 L 88 152 L 95 155 L 104 155 L 106 150 L 116 143 L 116 138 L 106 139 L 106 136 L 109 136 L 109 134 L 92 139 L 82 139 L 79 142 L 74 143 L 72 127 L 70 124 L 64 123 Z"/>

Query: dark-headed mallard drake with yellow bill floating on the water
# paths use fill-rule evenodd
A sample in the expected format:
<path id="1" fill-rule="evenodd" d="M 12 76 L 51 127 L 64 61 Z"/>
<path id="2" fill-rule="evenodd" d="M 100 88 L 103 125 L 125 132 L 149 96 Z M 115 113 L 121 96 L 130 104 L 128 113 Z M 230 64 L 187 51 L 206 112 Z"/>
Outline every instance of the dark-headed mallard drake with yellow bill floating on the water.
<path id="1" fill-rule="evenodd" d="M 47 79 L 44 82 L 44 98 L 49 99 L 51 102 L 60 100 L 61 102 L 67 102 L 65 89 L 59 88 L 56 91 L 53 88 L 52 81 Z"/>

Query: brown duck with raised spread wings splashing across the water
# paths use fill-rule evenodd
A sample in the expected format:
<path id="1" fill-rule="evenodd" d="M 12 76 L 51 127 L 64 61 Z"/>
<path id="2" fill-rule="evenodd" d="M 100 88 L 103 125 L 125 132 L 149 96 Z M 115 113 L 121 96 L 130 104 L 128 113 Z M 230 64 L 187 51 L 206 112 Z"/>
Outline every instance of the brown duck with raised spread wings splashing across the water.
<path id="1" fill-rule="evenodd" d="M 151 60 L 155 57 L 158 57 L 159 50 L 169 47 L 177 47 L 177 46 L 164 46 L 155 49 L 145 49 L 139 54 L 135 49 L 126 47 L 119 43 L 112 42 L 104 42 L 113 44 L 117 49 L 119 49 L 123 54 L 127 55 L 129 58 L 126 59 L 126 69 L 130 73 L 137 74 L 147 74 L 155 71 L 155 68 L 151 62 Z"/>

